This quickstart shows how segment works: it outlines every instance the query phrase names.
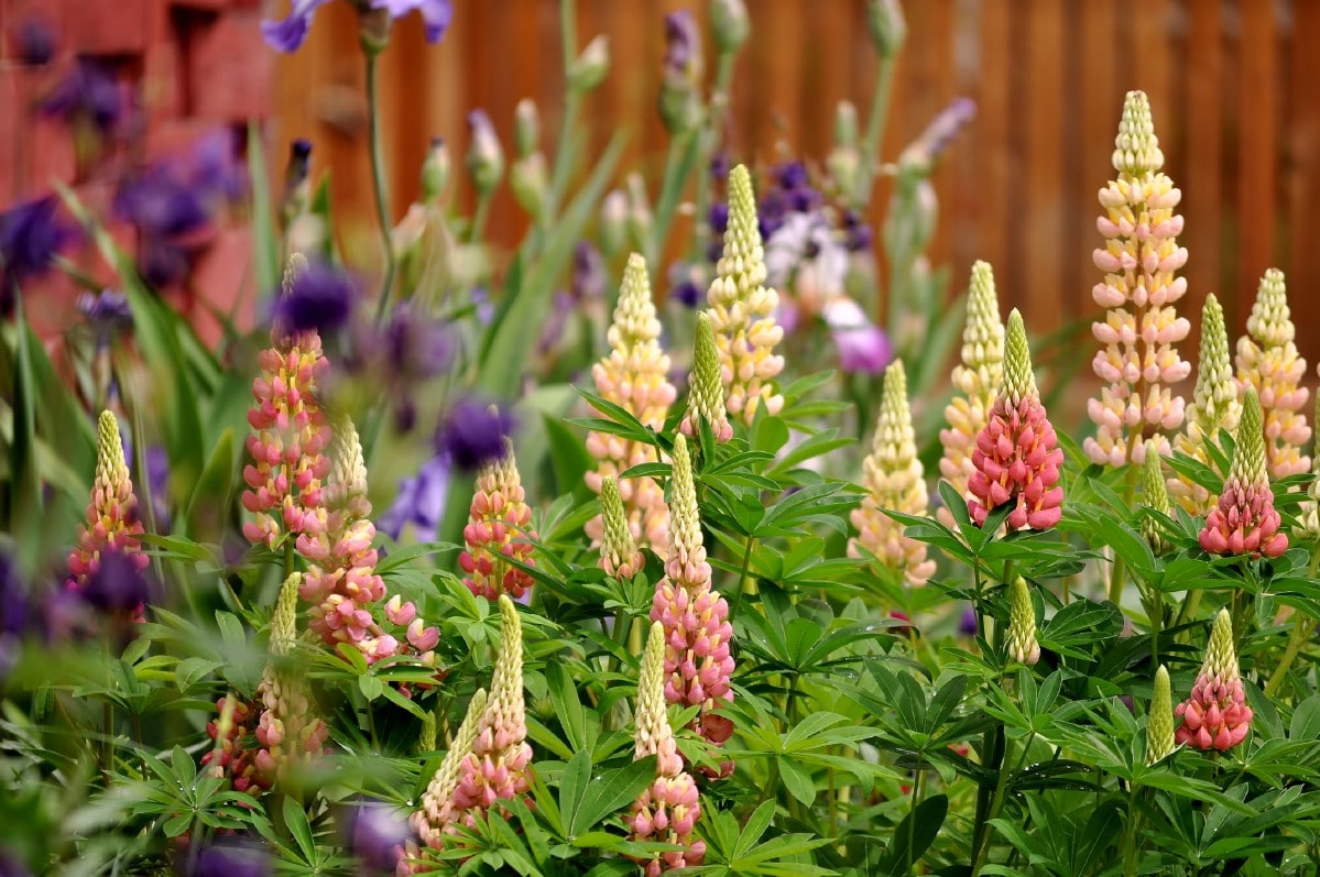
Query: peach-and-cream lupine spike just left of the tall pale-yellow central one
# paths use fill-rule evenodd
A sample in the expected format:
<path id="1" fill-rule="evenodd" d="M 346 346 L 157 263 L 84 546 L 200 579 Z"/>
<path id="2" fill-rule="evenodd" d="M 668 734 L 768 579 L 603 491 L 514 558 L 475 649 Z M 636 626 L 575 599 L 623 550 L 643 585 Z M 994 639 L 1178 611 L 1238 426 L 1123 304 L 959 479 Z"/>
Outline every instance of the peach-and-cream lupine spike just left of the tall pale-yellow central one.
<path id="1" fill-rule="evenodd" d="M 638 253 L 628 256 L 609 331 L 610 353 L 591 367 L 597 392 L 652 429 L 664 427 L 677 390 L 669 382 L 669 357 L 660 348 L 660 320 L 651 301 L 647 262 Z M 618 435 L 589 433 L 586 448 L 597 460 L 586 483 L 597 493 L 607 476 L 619 477 L 643 463 L 655 463 L 656 448 L 645 442 L 628 442 Z M 669 510 L 664 489 L 652 477 L 619 483 L 619 495 L 628 512 L 632 538 L 643 547 L 664 554 L 669 539 Z M 599 541 L 602 522 L 593 518 L 586 533 Z"/>

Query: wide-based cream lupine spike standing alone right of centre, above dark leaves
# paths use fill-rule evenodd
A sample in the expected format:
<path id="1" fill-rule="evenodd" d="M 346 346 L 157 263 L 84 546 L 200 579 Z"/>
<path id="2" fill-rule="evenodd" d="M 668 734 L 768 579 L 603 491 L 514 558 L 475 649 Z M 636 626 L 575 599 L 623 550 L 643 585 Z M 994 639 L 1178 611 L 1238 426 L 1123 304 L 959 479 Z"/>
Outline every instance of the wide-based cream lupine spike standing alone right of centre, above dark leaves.
<path id="1" fill-rule="evenodd" d="M 925 557 L 925 543 L 903 535 L 903 525 L 882 510 L 925 514 L 929 501 L 921 460 L 916 456 L 907 376 L 900 360 L 884 369 L 880 415 L 871 452 L 862 460 L 862 484 L 867 493 L 850 514 L 858 534 L 849 539 L 849 557 L 870 553 L 900 572 L 908 584 L 925 584 L 935 572 L 935 560 Z"/>

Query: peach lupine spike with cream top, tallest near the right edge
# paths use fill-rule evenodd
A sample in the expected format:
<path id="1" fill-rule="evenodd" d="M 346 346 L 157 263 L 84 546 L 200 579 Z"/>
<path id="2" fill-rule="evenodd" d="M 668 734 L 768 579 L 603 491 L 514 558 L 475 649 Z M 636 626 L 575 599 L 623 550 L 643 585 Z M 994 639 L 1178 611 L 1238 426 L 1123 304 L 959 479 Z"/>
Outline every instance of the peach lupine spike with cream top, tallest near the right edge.
<path id="1" fill-rule="evenodd" d="M 1246 335 L 1238 339 L 1237 378 L 1239 397 L 1247 386 L 1261 397 L 1266 460 L 1274 479 L 1311 468 L 1311 458 L 1302 454 L 1302 446 L 1311 440 L 1302 410 L 1308 390 L 1300 386 L 1307 361 L 1298 355 L 1295 335 L 1283 272 L 1271 268 L 1261 278 Z"/>

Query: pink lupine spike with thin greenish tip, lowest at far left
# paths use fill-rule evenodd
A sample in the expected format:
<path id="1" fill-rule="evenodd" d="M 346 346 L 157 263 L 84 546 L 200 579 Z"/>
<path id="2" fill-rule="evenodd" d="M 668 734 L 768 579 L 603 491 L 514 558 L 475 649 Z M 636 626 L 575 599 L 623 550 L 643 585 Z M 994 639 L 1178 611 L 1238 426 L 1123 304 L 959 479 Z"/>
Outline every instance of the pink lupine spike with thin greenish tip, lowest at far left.
<path id="1" fill-rule="evenodd" d="M 260 749 L 253 764 L 271 782 L 284 781 L 310 765 L 325 752 L 330 737 L 325 723 L 313 712 L 302 673 L 288 666 L 298 640 L 301 579 L 294 572 L 280 588 L 271 619 L 271 661 L 257 687 L 263 711 L 256 727 Z"/>

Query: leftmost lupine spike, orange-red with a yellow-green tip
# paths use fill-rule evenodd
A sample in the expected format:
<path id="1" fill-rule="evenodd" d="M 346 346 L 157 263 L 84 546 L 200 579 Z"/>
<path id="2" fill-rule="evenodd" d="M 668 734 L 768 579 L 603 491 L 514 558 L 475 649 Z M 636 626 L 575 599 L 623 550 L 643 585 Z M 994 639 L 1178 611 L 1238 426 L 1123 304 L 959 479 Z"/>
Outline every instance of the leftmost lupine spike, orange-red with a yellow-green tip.
<path id="1" fill-rule="evenodd" d="M 114 411 L 102 411 L 96 421 L 96 479 L 87 502 L 87 524 L 78 535 L 78 545 L 69 553 L 71 587 L 86 588 L 107 551 L 121 554 L 139 571 L 145 570 L 150 558 L 143 553 L 141 534 L 143 524 L 137 520 L 137 497 L 133 496 L 133 481 L 124 460 L 119 421 Z M 135 616 L 141 616 L 141 607 Z"/>

